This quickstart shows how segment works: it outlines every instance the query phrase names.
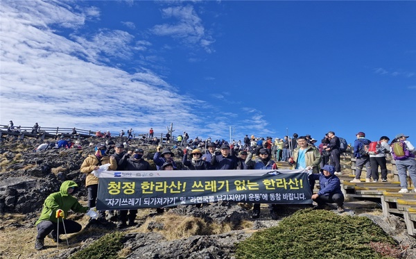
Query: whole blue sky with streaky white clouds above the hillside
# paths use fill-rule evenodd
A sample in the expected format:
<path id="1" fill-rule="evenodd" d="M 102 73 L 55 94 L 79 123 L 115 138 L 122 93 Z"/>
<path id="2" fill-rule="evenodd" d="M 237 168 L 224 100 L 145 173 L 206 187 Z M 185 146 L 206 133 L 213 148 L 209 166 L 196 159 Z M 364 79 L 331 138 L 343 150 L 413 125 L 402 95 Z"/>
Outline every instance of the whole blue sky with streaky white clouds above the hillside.
<path id="1" fill-rule="evenodd" d="M 0 5 L 0 124 L 416 137 L 415 1 Z"/>

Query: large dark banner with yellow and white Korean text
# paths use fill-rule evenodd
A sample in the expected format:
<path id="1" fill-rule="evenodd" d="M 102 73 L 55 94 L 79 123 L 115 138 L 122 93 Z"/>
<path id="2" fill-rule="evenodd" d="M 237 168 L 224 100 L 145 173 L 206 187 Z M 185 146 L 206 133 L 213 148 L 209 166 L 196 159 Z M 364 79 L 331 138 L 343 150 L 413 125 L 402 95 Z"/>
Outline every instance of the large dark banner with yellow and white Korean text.
<path id="1" fill-rule="evenodd" d="M 304 170 L 105 171 L 98 178 L 98 210 L 216 201 L 312 203 Z"/>

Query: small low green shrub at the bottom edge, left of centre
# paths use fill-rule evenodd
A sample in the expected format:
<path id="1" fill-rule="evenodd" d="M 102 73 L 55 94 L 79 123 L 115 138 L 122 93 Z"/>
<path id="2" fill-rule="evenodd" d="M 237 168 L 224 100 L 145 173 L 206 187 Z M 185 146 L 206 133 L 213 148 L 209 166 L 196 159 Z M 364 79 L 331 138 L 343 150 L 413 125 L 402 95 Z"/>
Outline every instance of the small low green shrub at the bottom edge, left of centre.
<path id="1" fill-rule="evenodd" d="M 116 259 L 117 253 L 123 248 L 123 233 L 113 232 L 96 240 L 86 249 L 74 253 L 71 259 Z"/>

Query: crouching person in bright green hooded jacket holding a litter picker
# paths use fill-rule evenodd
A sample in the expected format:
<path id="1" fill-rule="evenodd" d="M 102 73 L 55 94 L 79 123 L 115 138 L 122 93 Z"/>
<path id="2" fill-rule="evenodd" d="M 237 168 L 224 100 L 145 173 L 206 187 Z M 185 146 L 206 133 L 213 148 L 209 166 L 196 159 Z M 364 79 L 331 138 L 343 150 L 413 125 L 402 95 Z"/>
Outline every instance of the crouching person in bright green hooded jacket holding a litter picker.
<path id="1" fill-rule="evenodd" d="M 45 199 L 42 213 L 35 223 L 37 228 L 35 241 L 36 250 L 44 248 L 44 239 L 46 235 L 50 237 L 53 242 L 62 242 L 58 237 L 58 217 L 61 217 L 59 229 L 64 231 L 65 225 L 67 234 L 77 233 L 83 228 L 83 226 L 77 222 L 74 222 L 71 219 L 65 219 L 68 217 L 68 210 L 84 213 L 89 210 L 88 207 L 82 206 L 75 197 L 72 197 L 71 194 L 76 192 L 77 188 L 78 185 L 74 181 L 64 181 L 60 186 L 59 192 L 54 192 Z"/>

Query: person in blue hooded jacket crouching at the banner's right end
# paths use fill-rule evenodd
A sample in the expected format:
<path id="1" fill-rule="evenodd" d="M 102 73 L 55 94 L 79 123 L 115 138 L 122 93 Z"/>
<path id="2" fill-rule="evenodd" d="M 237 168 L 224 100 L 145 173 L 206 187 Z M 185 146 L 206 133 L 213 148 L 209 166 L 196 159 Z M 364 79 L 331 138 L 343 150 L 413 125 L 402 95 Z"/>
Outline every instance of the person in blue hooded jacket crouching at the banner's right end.
<path id="1" fill-rule="evenodd" d="M 312 195 L 312 200 L 318 203 L 314 209 L 324 209 L 327 203 L 336 203 L 338 212 L 344 211 L 344 194 L 341 191 L 340 178 L 336 176 L 335 167 L 324 165 L 320 174 L 309 175 L 310 180 L 319 180 L 320 190 Z"/>

